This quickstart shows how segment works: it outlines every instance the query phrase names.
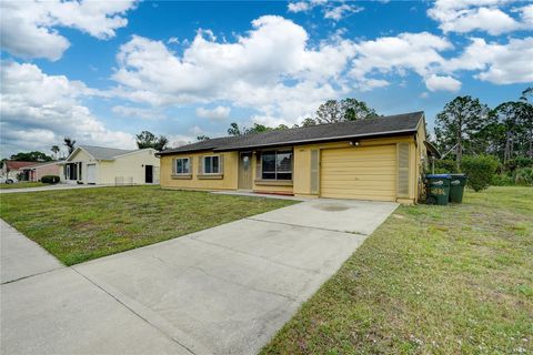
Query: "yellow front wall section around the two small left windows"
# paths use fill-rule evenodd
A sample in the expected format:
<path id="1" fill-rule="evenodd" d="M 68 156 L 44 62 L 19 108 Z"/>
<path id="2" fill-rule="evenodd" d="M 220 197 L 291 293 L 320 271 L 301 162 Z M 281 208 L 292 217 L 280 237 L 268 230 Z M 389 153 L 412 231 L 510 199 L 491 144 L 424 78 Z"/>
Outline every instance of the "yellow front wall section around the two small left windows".
<path id="1" fill-rule="evenodd" d="M 199 160 L 204 155 L 223 155 L 223 171 L 221 175 L 207 176 L 199 174 Z M 191 175 L 173 175 L 172 166 L 177 158 L 189 158 L 192 162 Z M 182 190 L 237 190 L 238 189 L 238 152 L 200 152 L 182 153 L 175 155 L 161 156 L 161 186 Z"/>

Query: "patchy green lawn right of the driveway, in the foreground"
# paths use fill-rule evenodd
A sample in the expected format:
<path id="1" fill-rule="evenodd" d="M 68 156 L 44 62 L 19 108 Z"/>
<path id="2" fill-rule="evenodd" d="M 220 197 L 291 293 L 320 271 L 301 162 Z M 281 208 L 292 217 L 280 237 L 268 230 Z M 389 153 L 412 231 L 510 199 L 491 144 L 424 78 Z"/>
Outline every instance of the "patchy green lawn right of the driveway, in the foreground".
<path id="1" fill-rule="evenodd" d="M 532 354 L 533 189 L 401 206 L 262 354 Z"/>

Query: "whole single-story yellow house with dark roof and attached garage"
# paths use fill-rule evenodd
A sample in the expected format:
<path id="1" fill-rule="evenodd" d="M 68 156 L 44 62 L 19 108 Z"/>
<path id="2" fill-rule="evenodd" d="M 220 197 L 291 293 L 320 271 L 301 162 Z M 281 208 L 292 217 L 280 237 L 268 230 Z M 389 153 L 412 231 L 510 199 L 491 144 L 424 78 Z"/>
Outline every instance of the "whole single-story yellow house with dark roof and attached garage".
<path id="1" fill-rule="evenodd" d="M 201 141 L 160 152 L 161 186 L 414 203 L 423 112 Z"/>

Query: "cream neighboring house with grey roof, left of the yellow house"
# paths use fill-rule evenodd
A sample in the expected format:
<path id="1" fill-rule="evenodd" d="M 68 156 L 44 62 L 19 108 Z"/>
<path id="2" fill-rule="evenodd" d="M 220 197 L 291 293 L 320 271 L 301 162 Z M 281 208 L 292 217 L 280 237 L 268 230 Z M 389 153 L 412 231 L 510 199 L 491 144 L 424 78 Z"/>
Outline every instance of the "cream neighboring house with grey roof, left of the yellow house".
<path id="1" fill-rule="evenodd" d="M 79 145 L 62 162 L 68 183 L 145 184 L 159 183 L 159 158 L 154 149 L 123 150 Z"/>

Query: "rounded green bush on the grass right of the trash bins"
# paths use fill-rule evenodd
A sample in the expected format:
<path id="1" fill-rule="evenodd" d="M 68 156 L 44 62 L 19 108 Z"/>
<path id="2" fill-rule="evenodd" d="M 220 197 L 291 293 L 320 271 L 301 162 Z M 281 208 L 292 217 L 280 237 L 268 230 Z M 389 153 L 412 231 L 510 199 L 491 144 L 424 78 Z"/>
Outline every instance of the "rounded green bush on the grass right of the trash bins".
<path id="1" fill-rule="evenodd" d="M 464 156 L 462 168 L 469 178 L 466 185 L 476 192 L 489 187 L 499 165 L 492 155 Z"/>

